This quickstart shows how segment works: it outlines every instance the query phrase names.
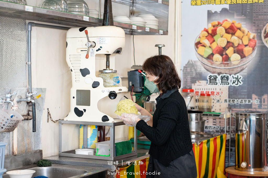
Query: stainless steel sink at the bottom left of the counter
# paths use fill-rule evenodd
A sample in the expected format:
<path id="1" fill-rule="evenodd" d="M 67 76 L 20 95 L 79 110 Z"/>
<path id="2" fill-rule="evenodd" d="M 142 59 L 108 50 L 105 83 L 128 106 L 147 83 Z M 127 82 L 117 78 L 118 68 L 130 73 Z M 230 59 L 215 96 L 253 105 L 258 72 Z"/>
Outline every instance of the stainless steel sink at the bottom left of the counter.
<path id="1" fill-rule="evenodd" d="M 31 169 L 36 172 L 32 177 L 46 176 L 48 178 L 90 178 L 90 177 L 110 177 L 110 169 L 99 167 L 84 167 L 76 165 L 62 165 L 52 164 L 49 167 L 38 167 L 37 165 L 31 165 L 18 169 Z M 17 170 L 17 169 L 13 169 Z M 4 174 L 3 178 L 9 178 L 9 175 Z"/>

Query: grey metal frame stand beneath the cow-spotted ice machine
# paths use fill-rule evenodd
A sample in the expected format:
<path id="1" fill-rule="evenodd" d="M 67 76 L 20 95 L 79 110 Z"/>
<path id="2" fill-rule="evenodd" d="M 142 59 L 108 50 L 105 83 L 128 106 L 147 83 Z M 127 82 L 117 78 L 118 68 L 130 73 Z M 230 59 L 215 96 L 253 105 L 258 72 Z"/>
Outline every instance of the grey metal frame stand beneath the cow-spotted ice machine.
<path id="1" fill-rule="evenodd" d="M 63 124 L 77 124 L 83 125 L 83 145 L 87 148 L 87 125 L 100 125 L 100 126 L 110 126 L 110 156 L 95 156 L 95 155 L 79 155 L 75 154 L 75 150 L 62 152 L 62 125 Z M 128 153 L 121 156 L 115 156 L 115 126 L 124 125 L 123 121 L 120 122 L 85 122 L 85 121 L 64 121 L 59 120 L 59 156 L 67 156 L 67 157 L 77 157 L 77 158 L 89 158 L 89 159 L 97 159 L 97 160 L 121 160 L 126 157 L 131 157 L 137 155 L 137 129 L 134 129 L 134 151 L 132 153 Z M 86 129 L 85 129 L 86 128 Z M 92 148 L 91 148 L 92 149 Z M 96 149 L 94 149 L 96 152 Z M 94 152 L 94 154 L 95 154 Z"/>

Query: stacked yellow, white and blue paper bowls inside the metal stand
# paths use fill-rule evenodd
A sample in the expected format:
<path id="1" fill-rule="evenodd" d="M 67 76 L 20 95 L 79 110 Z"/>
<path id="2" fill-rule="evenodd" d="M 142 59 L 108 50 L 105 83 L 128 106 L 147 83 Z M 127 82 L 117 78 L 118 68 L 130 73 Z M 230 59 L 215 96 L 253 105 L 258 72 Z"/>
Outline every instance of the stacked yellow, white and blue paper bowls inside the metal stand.
<path id="1" fill-rule="evenodd" d="M 98 127 L 96 125 L 88 125 L 87 132 L 87 148 L 96 148 L 95 143 L 98 142 Z M 84 148 L 83 125 L 80 125 L 79 128 L 79 148 Z"/>

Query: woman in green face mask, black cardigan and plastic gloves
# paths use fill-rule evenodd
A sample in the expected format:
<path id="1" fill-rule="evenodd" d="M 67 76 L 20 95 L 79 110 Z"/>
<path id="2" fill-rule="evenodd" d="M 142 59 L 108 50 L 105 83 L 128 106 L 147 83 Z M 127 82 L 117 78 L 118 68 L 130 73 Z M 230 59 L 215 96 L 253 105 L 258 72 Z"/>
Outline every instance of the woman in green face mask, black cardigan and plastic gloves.
<path id="1" fill-rule="evenodd" d="M 135 114 L 123 113 L 118 118 L 136 126 L 151 141 L 146 178 L 196 178 L 188 112 L 178 91 L 181 80 L 175 65 L 168 56 L 158 55 L 146 59 L 143 70 L 147 77 L 146 88 L 151 93 L 160 92 L 154 116 L 136 104 L 142 115 L 151 117 L 147 124 Z"/>

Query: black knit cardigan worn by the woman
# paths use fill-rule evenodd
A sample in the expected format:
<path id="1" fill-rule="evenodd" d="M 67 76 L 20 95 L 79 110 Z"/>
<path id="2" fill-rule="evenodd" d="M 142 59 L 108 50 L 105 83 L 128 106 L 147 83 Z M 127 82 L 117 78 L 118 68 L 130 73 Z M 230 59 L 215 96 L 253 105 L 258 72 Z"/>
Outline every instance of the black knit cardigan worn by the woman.
<path id="1" fill-rule="evenodd" d="M 174 159 L 192 150 L 188 112 L 177 89 L 156 98 L 152 127 L 140 120 L 136 128 L 151 141 L 149 154 L 168 167 Z"/>

